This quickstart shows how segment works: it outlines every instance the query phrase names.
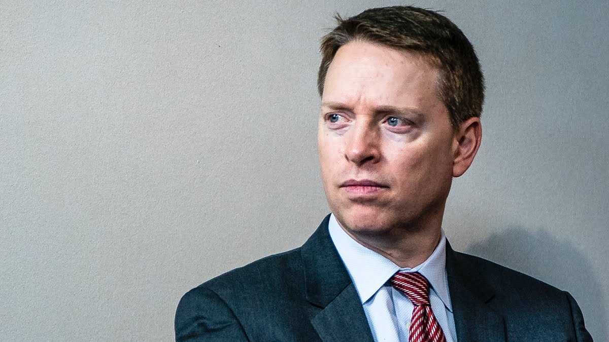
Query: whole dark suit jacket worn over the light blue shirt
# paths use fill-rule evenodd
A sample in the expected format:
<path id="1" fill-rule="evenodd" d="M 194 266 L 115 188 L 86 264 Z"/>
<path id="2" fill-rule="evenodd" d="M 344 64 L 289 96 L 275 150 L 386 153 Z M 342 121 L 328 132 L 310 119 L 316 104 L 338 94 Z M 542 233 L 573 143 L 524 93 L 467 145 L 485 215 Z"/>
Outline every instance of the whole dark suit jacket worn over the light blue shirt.
<path id="1" fill-rule="evenodd" d="M 369 341 L 364 309 L 328 232 L 300 248 L 192 289 L 175 315 L 178 341 Z M 569 293 L 446 249 L 459 341 L 591 341 Z"/>

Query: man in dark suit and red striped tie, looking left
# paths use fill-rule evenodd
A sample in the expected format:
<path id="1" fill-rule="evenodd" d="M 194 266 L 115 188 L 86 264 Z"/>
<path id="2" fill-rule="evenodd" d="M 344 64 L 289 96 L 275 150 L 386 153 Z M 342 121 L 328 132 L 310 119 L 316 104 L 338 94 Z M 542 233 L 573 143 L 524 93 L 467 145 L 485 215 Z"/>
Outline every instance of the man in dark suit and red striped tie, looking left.
<path id="1" fill-rule="evenodd" d="M 338 21 L 318 83 L 332 214 L 301 248 L 186 293 L 176 339 L 590 341 L 571 295 L 446 241 L 452 178 L 482 138 L 482 72 L 463 33 L 415 7 Z"/>

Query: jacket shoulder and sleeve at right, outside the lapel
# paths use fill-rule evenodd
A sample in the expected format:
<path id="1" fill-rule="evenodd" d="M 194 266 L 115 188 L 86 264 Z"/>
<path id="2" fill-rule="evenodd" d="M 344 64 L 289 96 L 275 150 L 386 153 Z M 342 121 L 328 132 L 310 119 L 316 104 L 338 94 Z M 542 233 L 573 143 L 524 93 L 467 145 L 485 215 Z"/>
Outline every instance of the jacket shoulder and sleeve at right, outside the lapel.
<path id="1" fill-rule="evenodd" d="M 446 269 L 449 278 L 480 295 L 505 319 L 507 333 L 518 337 L 515 340 L 528 336 L 536 341 L 591 341 L 579 305 L 568 292 L 481 257 L 459 252 L 452 256 L 454 269 Z"/>

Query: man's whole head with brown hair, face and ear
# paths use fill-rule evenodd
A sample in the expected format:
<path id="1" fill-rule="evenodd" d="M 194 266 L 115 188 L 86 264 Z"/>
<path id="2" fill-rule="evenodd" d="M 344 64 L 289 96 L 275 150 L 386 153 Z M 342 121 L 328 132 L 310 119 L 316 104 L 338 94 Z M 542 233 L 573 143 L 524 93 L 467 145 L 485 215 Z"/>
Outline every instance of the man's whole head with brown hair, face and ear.
<path id="1" fill-rule="evenodd" d="M 339 19 L 322 52 L 318 146 L 339 223 L 352 236 L 439 232 L 452 177 L 481 141 L 470 43 L 437 13 L 392 7 Z"/>

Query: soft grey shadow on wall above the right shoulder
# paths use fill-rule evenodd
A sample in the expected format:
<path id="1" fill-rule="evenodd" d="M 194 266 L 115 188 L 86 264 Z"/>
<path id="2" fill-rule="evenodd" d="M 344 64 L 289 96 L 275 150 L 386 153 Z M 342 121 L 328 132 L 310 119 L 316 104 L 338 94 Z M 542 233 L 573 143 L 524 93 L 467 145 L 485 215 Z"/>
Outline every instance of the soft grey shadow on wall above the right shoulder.
<path id="1" fill-rule="evenodd" d="M 466 253 L 529 274 L 571 293 L 594 340 L 609 341 L 605 298 L 590 262 L 567 240 L 544 230 L 508 228 L 470 245 Z"/>

